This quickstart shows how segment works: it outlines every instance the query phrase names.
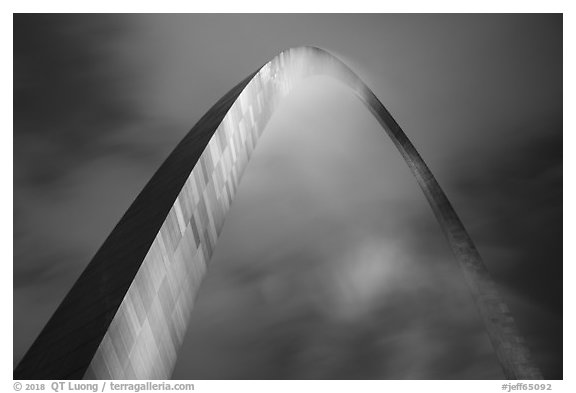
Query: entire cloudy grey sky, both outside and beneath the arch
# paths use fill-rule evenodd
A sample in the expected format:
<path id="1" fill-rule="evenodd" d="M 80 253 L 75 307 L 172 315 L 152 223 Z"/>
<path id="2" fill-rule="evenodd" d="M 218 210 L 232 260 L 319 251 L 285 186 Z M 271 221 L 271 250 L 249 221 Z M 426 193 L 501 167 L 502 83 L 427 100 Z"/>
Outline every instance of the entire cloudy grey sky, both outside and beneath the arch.
<path id="1" fill-rule="evenodd" d="M 170 151 L 283 49 L 348 64 L 403 127 L 546 378 L 562 378 L 561 15 L 15 15 L 14 365 Z M 272 118 L 177 379 L 500 379 L 416 181 L 323 77 Z"/>

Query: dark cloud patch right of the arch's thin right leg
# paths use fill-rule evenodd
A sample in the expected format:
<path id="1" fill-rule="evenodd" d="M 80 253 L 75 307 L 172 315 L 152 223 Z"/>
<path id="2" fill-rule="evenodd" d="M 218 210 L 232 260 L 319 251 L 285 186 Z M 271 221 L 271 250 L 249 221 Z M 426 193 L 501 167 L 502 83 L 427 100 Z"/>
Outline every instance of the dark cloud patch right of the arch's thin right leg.
<path id="1" fill-rule="evenodd" d="M 517 132 L 528 137 L 496 147 L 505 154 L 482 166 L 454 170 L 450 187 L 464 202 L 461 216 L 508 294 L 520 330 L 535 343 L 536 361 L 556 379 L 562 377 L 562 336 L 551 333 L 562 329 L 561 118 Z"/>

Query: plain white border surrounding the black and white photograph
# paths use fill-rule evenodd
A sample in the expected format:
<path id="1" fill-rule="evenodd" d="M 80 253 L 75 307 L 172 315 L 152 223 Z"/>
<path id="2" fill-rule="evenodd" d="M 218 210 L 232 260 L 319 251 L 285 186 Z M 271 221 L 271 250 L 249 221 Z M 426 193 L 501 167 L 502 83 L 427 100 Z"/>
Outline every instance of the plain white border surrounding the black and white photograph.
<path id="1" fill-rule="evenodd" d="M 274 4 L 271 1 L 257 2 L 190 2 L 185 4 L 181 1 L 164 0 L 155 2 L 144 1 L 112 1 L 78 2 L 78 1 L 7 1 L 3 3 L 1 28 L 1 42 L 3 53 L 3 79 L 4 94 L 2 108 L 4 108 L 2 122 L 2 154 L 0 154 L 0 168 L 2 178 L 5 179 L 5 189 L 2 195 L 2 250 L 13 259 L 12 223 L 13 223 L 13 48 L 12 48 L 12 13 L 13 12 L 562 12 L 564 13 L 564 171 L 566 181 L 564 185 L 564 244 L 570 245 L 573 238 L 571 223 L 574 222 L 575 211 L 571 201 L 576 201 L 576 192 L 573 186 L 573 173 L 576 166 L 571 155 L 574 146 L 574 99 L 573 71 L 576 70 L 574 62 L 574 26 L 575 18 L 573 8 L 568 1 L 482 1 L 481 3 L 455 2 L 455 1 L 404 1 L 386 4 L 371 0 L 355 0 L 340 2 L 315 2 L 297 0 L 285 2 L 286 4 Z M 378 3 L 378 4 L 376 4 Z M 575 2 L 572 2 L 575 3 Z M 9 58 L 8 58 L 9 57 Z M 8 180 L 9 179 L 9 180 Z M 10 186 L 8 182 L 10 181 Z M 10 187 L 10 189 L 8 189 Z M 564 260 L 573 262 L 576 255 L 571 247 L 565 248 Z M 6 258 L 8 259 L 8 258 Z M 12 316 L 12 263 L 9 260 L 3 262 L 5 271 L 1 274 L 1 284 L 4 296 L 2 296 L 3 309 Z M 546 381 L 551 383 L 553 391 L 568 392 L 576 391 L 574 383 L 574 361 L 571 353 L 574 349 L 574 285 L 571 279 L 574 277 L 574 264 L 564 264 L 564 381 Z M 2 324 L 2 337 L 5 340 L 5 350 L 1 358 L 0 370 L 2 370 L 2 384 L 4 391 L 14 391 L 12 382 L 12 348 L 8 340 L 12 342 L 12 323 Z M 174 382 L 174 381 L 173 381 Z M 493 392 L 504 391 L 502 384 L 506 381 L 196 381 L 196 390 L 203 392 L 211 391 L 250 391 L 269 392 L 273 388 L 275 392 L 311 391 L 321 389 L 323 391 L 336 392 L 382 392 L 383 389 L 391 391 L 445 391 L 445 392 Z M 523 390 L 520 388 L 520 390 Z"/>

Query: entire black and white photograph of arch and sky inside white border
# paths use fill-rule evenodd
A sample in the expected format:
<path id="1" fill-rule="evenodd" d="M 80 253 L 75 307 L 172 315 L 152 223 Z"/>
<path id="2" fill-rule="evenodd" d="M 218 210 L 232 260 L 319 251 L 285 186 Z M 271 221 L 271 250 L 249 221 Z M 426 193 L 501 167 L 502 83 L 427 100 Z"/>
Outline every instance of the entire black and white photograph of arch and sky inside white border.
<path id="1" fill-rule="evenodd" d="M 12 18 L 14 380 L 567 377 L 562 13 Z"/>

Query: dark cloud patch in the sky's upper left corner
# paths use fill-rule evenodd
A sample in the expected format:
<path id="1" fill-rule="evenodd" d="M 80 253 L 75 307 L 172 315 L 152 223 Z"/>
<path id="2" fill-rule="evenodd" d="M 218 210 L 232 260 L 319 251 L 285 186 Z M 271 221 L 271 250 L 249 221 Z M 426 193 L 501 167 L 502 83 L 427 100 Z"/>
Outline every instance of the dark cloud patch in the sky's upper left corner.
<path id="1" fill-rule="evenodd" d="M 131 94 L 140 74 L 116 53 L 130 31 L 122 16 L 14 16 L 16 193 L 53 186 L 94 158 L 158 154 L 142 143 L 159 125 Z"/>

